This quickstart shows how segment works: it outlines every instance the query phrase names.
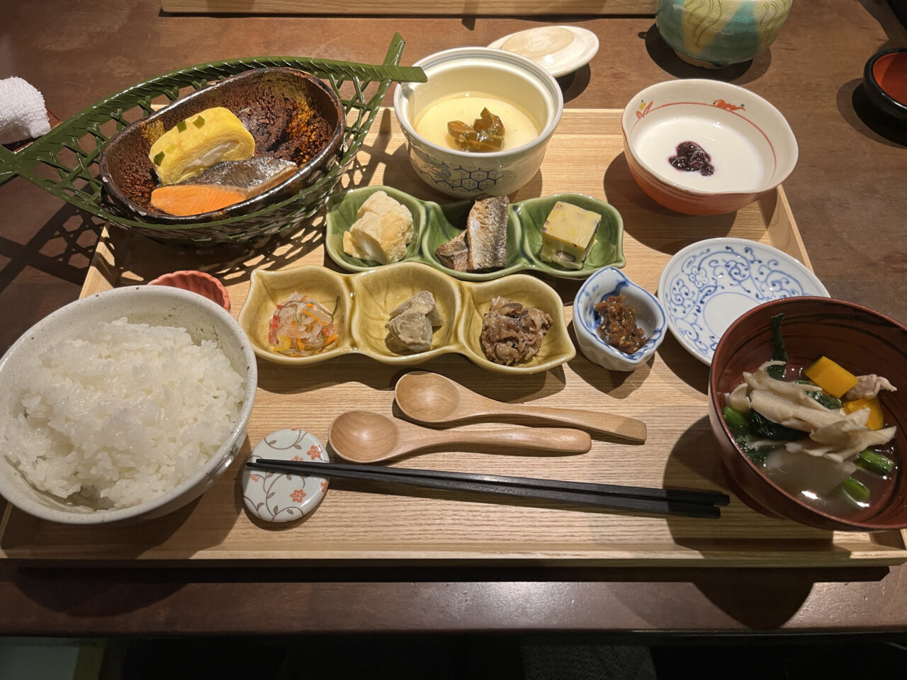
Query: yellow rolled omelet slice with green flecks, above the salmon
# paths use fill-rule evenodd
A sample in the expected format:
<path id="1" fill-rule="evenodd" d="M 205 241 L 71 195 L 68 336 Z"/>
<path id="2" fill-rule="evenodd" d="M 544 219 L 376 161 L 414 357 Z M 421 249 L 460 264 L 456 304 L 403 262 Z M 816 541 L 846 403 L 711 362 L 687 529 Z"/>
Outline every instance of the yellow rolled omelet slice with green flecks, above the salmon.
<path id="1" fill-rule="evenodd" d="M 151 144 L 148 158 L 161 184 L 191 180 L 221 160 L 246 160 L 255 139 L 233 112 L 222 106 L 178 122 Z"/>

